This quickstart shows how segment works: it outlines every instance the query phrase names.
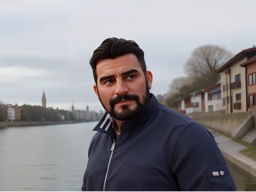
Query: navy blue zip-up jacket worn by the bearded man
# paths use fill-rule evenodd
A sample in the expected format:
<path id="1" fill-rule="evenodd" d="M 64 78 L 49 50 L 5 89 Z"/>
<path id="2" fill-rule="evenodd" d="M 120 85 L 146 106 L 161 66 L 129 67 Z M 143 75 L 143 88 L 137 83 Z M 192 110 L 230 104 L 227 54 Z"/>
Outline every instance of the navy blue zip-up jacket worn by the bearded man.
<path id="1" fill-rule="evenodd" d="M 82 191 L 236 191 L 213 136 L 151 94 L 114 141 L 106 113 L 91 140 Z"/>

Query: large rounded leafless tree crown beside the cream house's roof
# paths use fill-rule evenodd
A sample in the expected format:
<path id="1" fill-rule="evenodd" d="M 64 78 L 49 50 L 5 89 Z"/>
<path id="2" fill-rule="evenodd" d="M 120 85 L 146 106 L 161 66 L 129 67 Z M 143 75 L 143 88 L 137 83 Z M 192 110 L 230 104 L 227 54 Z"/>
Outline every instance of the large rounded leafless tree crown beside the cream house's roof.
<path id="1" fill-rule="evenodd" d="M 195 48 L 187 59 L 184 72 L 191 77 L 201 76 L 207 72 L 214 72 L 229 61 L 233 54 L 224 47 L 217 45 L 203 45 Z"/>

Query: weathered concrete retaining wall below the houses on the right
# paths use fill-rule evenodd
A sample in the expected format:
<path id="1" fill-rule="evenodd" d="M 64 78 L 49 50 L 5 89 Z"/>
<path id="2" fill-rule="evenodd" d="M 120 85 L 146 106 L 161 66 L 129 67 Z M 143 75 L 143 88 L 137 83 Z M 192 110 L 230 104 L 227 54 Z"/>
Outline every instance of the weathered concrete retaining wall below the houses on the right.
<path id="1" fill-rule="evenodd" d="M 232 135 L 250 115 L 253 115 L 255 118 L 255 111 L 225 114 L 225 110 L 219 110 L 208 113 L 194 113 L 188 116 L 205 126 Z"/>

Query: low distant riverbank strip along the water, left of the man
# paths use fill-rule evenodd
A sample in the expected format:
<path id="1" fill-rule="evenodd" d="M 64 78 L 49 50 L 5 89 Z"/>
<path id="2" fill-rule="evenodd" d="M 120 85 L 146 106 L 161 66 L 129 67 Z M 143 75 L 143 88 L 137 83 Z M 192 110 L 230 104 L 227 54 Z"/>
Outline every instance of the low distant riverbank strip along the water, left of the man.
<path id="1" fill-rule="evenodd" d="M 71 123 L 84 123 L 87 121 L 0 121 L 0 129 L 7 127 L 26 127 L 26 126 L 46 126 L 46 125 L 61 125 Z"/>

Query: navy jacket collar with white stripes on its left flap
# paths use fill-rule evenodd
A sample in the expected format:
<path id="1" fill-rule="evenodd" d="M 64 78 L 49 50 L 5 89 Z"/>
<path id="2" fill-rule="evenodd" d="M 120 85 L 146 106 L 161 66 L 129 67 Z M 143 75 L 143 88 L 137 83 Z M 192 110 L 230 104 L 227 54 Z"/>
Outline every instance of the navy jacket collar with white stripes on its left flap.
<path id="1" fill-rule="evenodd" d="M 157 110 L 159 102 L 154 94 L 150 94 L 150 101 L 142 111 L 141 114 L 137 115 L 133 119 L 121 123 L 121 134 L 129 132 L 131 129 L 135 129 L 139 126 L 145 125 L 145 123 L 152 117 L 152 115 Z M 103 118 L 98 122 L 98 124 L 93 129 L 94 131 L 99 131 L 114 137 L 114 119 L 111 115 L 106 112 Z"/>

